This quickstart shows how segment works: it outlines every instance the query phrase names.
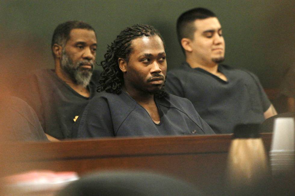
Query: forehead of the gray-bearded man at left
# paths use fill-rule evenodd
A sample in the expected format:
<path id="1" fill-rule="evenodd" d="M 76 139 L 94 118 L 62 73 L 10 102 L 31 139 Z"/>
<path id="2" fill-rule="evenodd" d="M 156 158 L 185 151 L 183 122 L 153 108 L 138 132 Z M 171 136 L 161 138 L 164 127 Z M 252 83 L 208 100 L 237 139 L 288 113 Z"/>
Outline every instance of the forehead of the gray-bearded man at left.
<path id="1" fill-rule="evenodd" d="M 92 42 L 96 43 L 95 32 L 88 29 L 72 29 L 70 31 L 71 42 Z"/>

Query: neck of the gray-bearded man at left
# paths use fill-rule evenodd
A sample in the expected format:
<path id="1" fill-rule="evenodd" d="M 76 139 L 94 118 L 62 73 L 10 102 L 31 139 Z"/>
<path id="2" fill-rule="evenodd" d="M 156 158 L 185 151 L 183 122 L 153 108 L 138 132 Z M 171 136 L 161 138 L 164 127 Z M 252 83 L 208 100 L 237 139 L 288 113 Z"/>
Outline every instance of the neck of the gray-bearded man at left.
<path id="1" fill-rule="evenodd" d="M 61 70 L 61 68 L 56 67 L 55 74 L 80 95 L 84 97 L 90 97 L 90 92 L 88 88 L 75 83 L 68 74 L 64 73 L 64 71 Z"/>

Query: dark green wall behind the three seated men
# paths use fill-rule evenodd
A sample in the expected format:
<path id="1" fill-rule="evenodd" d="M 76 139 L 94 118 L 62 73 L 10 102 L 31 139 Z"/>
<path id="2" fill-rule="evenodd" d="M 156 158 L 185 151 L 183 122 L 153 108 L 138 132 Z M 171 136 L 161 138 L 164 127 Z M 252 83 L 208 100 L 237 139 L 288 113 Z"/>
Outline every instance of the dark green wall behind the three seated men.
<path id="1" fill-rule="evenodd" d="M 209 8 L 219 17 L 226 42 L 225 63 L 254 72 L 264 87 L 277 87 L 286 68 L 294 66 L 294 1 L 277 0 L 2 0 L 1 65 L 16 74 L 53 67 L 50 42 L 54 28 L 67 20 L 83 20 L 96 29 L 97 61 L 125 27 L 135 23 L 155 26 L 166 42 L 171 69 L 184 60 L 176 40 L 177 17 L 194 7 Z"/>

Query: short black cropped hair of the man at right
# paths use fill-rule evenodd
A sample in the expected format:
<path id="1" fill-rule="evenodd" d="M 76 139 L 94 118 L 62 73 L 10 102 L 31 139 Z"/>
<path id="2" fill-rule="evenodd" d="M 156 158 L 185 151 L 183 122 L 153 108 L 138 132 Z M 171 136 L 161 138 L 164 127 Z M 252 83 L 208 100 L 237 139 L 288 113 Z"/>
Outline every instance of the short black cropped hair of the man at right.
<path id="1" fill-rule="evenodd" d="M 182 47 L 182 38 L 194 39 L 194 32 L 196 31 L 194 27 L 195 20 L 210 17 L 216 17 L 216 15 L 206 8 L 194 8 L 181 14 L 176 23 L 177 38 L 180 46 Z M 182 51 L 184 52 L 183 48 Z"/>

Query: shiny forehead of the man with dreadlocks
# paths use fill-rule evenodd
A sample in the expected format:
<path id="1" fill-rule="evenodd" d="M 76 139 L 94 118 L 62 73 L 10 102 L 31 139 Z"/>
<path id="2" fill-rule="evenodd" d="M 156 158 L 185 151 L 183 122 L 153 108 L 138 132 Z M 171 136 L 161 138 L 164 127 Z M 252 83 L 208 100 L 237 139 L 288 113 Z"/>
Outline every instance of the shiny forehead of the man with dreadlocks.
<path id="1" fill-rule="evenodd" d="M 164 44 L 158 35 L 152 37 L 141 37 L 131 41 L 131 54 L 155 54 L 165 52 Z"/>

